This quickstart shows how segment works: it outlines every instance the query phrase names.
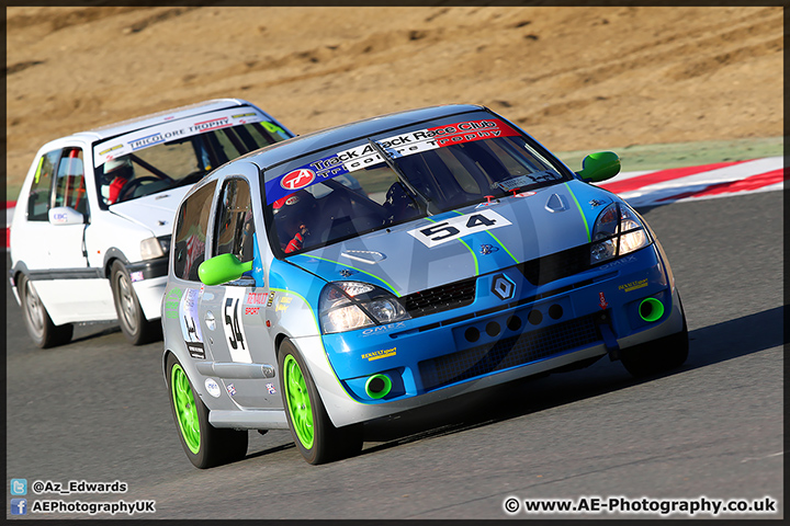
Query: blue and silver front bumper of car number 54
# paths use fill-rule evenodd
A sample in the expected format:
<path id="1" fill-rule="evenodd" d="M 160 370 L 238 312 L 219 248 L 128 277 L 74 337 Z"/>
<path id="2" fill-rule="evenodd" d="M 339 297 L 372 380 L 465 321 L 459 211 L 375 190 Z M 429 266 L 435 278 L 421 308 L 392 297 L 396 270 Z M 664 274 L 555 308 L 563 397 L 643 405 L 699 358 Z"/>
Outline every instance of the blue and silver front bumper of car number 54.
<path id="1" fill-rule="evenodd" d="M 514 284 L 503 299 L 497 278 Z M 499 279 L 501 284 L 501 279 Z M 499 287 L 501 289 L 501 287 Z M 640 305 L 656 298 L 655 321 Z M 679 332 L 682 311 L 655 245 L 535 286 L 514 266 L 478 276 L 474 301 L 375 330 L 295 339 L 336 426 L 364 422 Z M 384 374 L 381 399 L 365 381 Z"/>

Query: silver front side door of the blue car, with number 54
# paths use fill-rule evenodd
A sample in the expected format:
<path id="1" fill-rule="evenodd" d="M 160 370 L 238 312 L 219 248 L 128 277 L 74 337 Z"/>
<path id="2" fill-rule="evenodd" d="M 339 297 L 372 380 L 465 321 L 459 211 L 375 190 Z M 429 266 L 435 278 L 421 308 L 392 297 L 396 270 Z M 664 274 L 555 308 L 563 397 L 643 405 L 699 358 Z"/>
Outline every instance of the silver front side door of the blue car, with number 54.
<path id="1" fill-rule="evenodd" d="M 210 256 L 229 253 L 242 263 L 253 261 L 253 266 L 261 267 L 255 233 L 249 183 L 241 178 L 226 179 L 214 215 Z M 200 312 L 204 323 L 210 320 L 215 325 L 211 350 L 214 359 L 239 364 L 238 378 L 224 379 L 236 403 L 242 408 L 281 408 L 274 378 L 276 357 L 266 327 L 269 289 L 251 274 L 222 285 L 205 286 Z M 246 378 L 247 375 L 255 377 Z"/>

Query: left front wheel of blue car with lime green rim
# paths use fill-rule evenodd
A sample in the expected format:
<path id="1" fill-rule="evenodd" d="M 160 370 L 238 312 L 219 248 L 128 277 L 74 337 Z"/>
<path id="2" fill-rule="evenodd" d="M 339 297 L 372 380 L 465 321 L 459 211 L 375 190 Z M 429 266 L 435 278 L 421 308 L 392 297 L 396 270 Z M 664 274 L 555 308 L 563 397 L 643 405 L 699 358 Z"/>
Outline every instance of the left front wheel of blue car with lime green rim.
<path id="1" fill-rule="evenodd" d="M 308 464 L 339 460 L 362 449 L 362 424 L 335 427 L 309 369 L 290 340 L 278 352 L 280 389 L 294 444 Z"/>

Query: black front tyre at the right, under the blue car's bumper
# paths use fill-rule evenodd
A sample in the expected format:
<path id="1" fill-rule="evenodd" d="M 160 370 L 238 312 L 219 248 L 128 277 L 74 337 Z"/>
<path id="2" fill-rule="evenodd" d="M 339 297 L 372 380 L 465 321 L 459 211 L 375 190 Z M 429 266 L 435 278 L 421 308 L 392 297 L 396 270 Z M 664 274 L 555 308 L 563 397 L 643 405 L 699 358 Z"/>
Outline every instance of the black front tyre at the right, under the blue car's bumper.
<path id="1" fill-rule="evenodd" d="M 679 298 L 678 295 L 678 304 L 684 320 L 680 332 L 620 351 L 620 361 L 625 366 L 625 370 L 633 377 L 653 376 L 676 369 L 686 363 L 689 350 L 688 325 L 686 324 L 686 312 Z"/>

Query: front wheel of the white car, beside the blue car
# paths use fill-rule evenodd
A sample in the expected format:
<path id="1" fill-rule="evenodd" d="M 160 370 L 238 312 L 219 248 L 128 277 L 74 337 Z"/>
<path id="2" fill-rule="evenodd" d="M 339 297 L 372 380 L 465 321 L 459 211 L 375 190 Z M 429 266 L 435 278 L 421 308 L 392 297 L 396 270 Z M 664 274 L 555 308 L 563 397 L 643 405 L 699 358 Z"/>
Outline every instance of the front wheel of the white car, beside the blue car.
<path id="1" fill-rule="evenodd" d="M 120 261 L 115 261 L 110 270 L 115 312 L 126 340 L 132 345 L 143 345 L 161 338 L 161 322 L 148 321 L 139 305 L 137 295 L 132 287 L 129 273 Z"/>

